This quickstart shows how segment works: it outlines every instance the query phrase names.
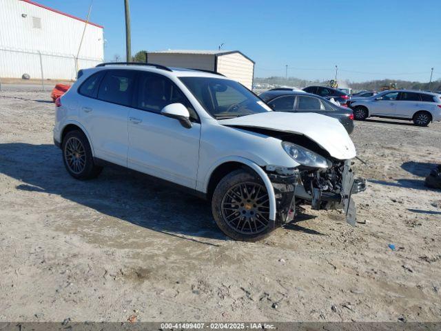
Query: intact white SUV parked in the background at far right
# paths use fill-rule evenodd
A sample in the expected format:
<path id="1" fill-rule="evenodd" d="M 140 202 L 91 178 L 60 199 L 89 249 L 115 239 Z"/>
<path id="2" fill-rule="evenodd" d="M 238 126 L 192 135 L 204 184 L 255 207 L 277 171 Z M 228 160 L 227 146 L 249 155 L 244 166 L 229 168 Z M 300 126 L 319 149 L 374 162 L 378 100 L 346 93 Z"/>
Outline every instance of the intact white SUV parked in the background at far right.
<path id="1" fill-rule="evenodd" d="M 373 97 L 349 101 L 355 119 L 371 116 L 409 119 L 416 126 L 428 126 L 441 121 L 440 94 L 413 90 L 389 90 Z"/>

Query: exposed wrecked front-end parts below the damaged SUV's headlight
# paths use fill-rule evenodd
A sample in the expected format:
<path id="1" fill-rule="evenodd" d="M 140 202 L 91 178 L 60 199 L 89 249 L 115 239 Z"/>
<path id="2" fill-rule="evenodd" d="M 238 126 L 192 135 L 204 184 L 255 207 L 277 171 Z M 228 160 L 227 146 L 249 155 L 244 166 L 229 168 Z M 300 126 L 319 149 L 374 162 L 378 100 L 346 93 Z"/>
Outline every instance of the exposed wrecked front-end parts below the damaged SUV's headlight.
<path id="1" fill-rule="evenodd" d="M 317 174 L 320 176 L 320 170 Z M 345 211 L 346 221 L 356 225 L 356 204 L 352 194 L 366 190 L 366 180 L 356 179 L 351 169 L 351 161 L 345 161 L 341 173 L 340 190 L 329 191 L 314 185 L 307 185 L 302 180 L 300 172 L 294 174 L 269 173 L 268 177 L 276 195 L 277 223 L 288 223 L 294 219 L 296 201 L 310 203 L 314 210 L 342 209 Z M 305 184 L 307 187 L 305 187 Z"/>

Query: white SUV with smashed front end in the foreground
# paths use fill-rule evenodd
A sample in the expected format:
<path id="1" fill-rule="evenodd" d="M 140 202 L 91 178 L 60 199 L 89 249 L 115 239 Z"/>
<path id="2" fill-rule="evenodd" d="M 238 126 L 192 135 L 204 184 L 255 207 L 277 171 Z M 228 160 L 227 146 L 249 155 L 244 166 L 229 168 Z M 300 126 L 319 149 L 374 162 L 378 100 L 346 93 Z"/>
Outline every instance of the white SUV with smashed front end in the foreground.
<path id="1" fill-rule="evenodd" d="M 273 112 L 220 74 L 153 64 L 81 70 L 56 102 L 54 143 L 76 179 L 112 163 L 211 201 L 220 230 L 255 241 L 296 206 L 343 208 L 355 225 L 356 157 L 345 128 L 320 114 Z"/>

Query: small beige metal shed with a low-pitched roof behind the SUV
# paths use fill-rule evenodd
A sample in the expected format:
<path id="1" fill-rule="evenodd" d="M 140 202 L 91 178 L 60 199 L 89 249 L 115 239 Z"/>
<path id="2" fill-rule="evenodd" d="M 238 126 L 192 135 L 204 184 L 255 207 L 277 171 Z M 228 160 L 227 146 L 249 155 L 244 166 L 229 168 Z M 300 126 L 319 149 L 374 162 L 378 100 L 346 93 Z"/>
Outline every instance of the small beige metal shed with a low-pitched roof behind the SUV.
<path id="1" fill-rule="evenodd" d="M 238 50 L 161 50 L 148 52 L 147 61 L 169 67 L 212 70 L 251 90 L 254 61 Z"/>

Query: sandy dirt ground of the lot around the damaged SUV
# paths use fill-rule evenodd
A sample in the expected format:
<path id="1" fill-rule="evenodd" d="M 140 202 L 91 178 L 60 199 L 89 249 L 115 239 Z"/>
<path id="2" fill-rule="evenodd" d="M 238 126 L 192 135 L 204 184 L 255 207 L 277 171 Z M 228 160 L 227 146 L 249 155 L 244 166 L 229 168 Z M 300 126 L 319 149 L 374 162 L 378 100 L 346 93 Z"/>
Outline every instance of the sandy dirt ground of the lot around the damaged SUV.
<path id="1" fill-rule="evenodd" d="M 53 123 L 48 92 L 1 92 L 0 321 L 440 321 L 441 123 L 357 122 L 361 223 L 307 209 L 258 243 L 143 177 L 72 179 Z"/>

